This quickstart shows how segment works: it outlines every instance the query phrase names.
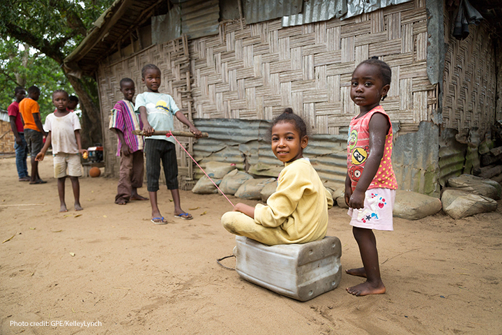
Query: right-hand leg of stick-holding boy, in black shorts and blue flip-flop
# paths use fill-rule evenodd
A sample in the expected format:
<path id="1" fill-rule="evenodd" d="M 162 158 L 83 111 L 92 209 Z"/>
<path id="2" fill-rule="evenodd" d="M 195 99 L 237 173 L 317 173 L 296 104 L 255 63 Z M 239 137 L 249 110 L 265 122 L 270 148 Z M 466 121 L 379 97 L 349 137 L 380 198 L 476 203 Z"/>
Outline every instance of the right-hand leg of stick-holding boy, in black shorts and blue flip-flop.
<path id="1" fill-rule="evenodd" d="M 167 142 L 167 141 L 166 141 Z M 164 176 L 166 186 L 173 197 L 174 216 L 191 220 L 192 215 L 181 209 L 181 200 L 178 188 L 178 161 L 176 160 L 176 146 L 172 142 L 167 142 L 166 149 L 162 154 L 162 166 L 164 167 Z"/>

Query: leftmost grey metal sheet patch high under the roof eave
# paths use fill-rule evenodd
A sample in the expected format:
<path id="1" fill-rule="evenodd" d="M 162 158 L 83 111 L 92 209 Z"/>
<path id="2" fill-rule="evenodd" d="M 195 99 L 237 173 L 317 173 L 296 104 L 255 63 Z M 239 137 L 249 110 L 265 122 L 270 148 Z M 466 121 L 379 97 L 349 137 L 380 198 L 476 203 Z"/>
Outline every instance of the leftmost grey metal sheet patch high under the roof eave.
<path id="1" fill-rule="evenodd" d="M 181 8 L 174 6 L 166 15 L 151 17 L 152 43 L 162 44 L 181 36 Z"/>

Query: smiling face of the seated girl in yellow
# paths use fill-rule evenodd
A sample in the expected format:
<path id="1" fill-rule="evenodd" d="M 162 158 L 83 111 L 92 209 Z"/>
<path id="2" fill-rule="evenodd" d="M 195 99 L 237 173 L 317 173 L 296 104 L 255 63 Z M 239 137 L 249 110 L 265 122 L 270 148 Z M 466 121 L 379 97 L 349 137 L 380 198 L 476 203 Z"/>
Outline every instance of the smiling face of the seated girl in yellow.
<path id="1" fill-rule="evenodd" d="M 307 144 L 308 137 L 300 138 L 296 126 L 291 122 L 282 121 L 272 127 L 272 151 L 282 163 L 302 158 Z"/>

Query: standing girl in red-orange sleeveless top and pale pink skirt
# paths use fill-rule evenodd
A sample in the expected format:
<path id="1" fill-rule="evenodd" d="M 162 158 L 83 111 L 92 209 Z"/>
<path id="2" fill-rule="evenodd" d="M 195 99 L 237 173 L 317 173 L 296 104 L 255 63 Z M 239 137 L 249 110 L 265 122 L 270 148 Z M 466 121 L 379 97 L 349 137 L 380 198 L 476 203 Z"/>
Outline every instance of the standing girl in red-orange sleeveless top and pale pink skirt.
<path id="1" fill-rule="evenodd" d="M 347 274 L 366 277 L 365 283 L 347 288 L 352 295 L 386 292 L 380 277 L 377 241 L 372 229 L 393 230 L 397 181 L 390 158 L 393 131 L 380 105 L 390 88 L 390 68 L 379 59 L 367 59 L 352 73 L 351 99 L 360 108 L 351 120 L 347 144 L 345 202 L 359 246 L 363 267 Z"/>

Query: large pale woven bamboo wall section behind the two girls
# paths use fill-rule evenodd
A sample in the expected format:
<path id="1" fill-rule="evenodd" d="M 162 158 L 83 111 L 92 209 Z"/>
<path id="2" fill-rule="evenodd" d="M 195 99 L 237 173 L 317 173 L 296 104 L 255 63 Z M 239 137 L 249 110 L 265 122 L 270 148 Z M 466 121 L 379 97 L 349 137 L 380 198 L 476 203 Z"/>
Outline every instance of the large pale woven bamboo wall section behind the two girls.
<path id="1" fill-rule="evenodd" d="M 436 108 L 426 20 L 425 0 L 415 0 L 343 21 L 222 25 L 218 36 L 190 40 L 194 117 L 273 119 L 293 107 L 312 133 L 338 134 L 357 112 L 353 69 L 379 56 L 393 70 L 382 105 L 402 133 L 416 131 Z"/>

